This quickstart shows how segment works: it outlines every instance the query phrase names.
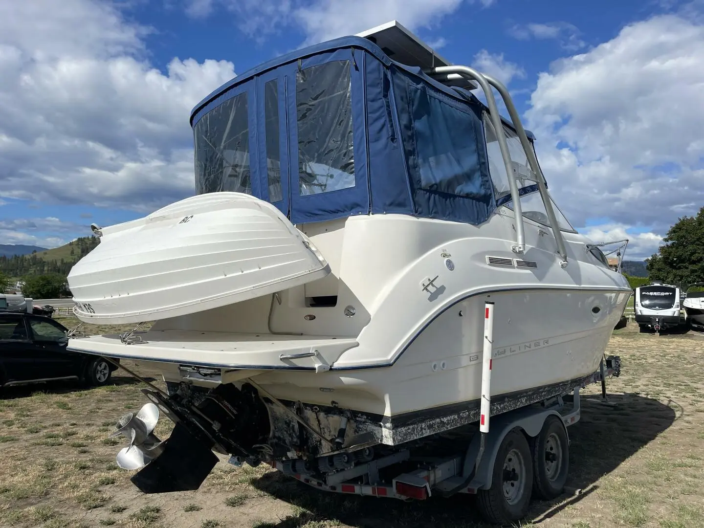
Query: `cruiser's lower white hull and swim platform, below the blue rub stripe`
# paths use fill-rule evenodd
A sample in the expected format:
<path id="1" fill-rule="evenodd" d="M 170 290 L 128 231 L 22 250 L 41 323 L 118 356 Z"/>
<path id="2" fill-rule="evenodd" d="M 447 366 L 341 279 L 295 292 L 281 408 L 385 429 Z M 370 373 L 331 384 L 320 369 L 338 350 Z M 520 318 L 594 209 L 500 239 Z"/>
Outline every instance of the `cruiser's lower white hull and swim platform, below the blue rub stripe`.
<path id="1" fill-rule="evenodd" d="M 623 291 L 579 289 L 476 294 L 444 310 L 384 366 L 337 367 L 346 356 L 365 356 L 374 348 L 363 335 L 334 339 L 157 329 L 139 334 L 143 342 L 129 346 L 117 335 L 105 335 L 72 339 L 70 348 L 155 362 L 152 367 L 175 384 L 188 377 L 189 382 L 213 388 L 251 379 L 282 401 L 301 402 L 303 414 L 314 422 L 325 422 L 320 409 L 346 408 L 356 416 L 354 434 L 371 432 L 377 441 L 397 445 L 476 420 L 484 301 L 495 303 L 491 395 L 500 404 L 563 394 L 598 370 L 628 296 Z M 311 350 L 320 356 L 295 363 L 280 359 Z M 329 370 L 316 370 L 321 360 Z M 208 381 L 186 374 L 192 365 L 220 369 L 220 376 Z M 501 405 L 496 410 L 501 412 Z M 270 411 L 280 414 L 276 406 Z M 331 411 L 329 416 L 334 429 L 336 414 Z M 284 423 L 287 417 L 278 419 Z"/>

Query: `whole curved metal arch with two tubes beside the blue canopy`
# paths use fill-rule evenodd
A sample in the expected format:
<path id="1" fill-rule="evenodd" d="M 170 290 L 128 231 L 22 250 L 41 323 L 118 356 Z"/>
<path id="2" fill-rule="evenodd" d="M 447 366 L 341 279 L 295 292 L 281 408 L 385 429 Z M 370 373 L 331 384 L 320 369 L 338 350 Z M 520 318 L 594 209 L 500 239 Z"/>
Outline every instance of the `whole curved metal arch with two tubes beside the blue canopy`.
<path id="1" fill-rule="evenodd" d="M 541 199 L 543 200 L 546 213 L 548 213 L 551 229 L 553 230 L 553 234 L 555 236 L 555 243 L 558 246 L 558 253 L 560 253 L 560 266 L 565 268 L 567 266 L 565 239 L 562 238 L 562 232 L 560 232 L 558 220 L 555 217 L 555 210 L 553 209 L 553 203 L 550 199 L 550 195 L 548 194 L 548 188 L 546 187 L 543 171 L 540 169 L 540 165 L 538 165 L 538 160 L 535 157 L 535 153 L 521 123 L 520 116 L 518 115 L 516 107 L 513 104 L 513 99 L 511 99 L 511 96 L 508 93 L 508 89 L 506 89 L 501 82 L 494 79 L 494 77 L 479 73 L 477 70 L 474 70 L 474 68 L 470 68 L 468 66 L 439 66 L 436 68 L 429 68 L 426 70 L 426 73 L 429 73 L 430 75 L 446 75 L 448 80 L 453 79 L 455 75 L 461 75 L 477 81 L 479 86 L 482 87 L 482 90 L 484 90 L 484 94 L 486 95 L 486 103 L 489 106 L 489 117 L 491 118 L 491 124 L 494 125 L 494 130 L 497 131 L 496 136 L 498 137 L 498 146 L 499 149 L 501 149 L 501 157 L 503 158 L 503 164 L 506 168 L 506 175 L 508 175 L 508 185 L 510 187 L 511 200 L 513 201 L 513 210 L 516 218 L 516 246 L 513 246 L 513 249 L 516 253 L 522 253 L 525 251 L 525 237 L 523 234 L 523 213 L 520 206 L 520 195 L 518 193 L 516 178 L 512 176 L 513 165 L 511 163 L 511 157 L 508 151 L 508 144 L 506 143 L 505 135 L 498 133 L 498 131 L 503 130 L 503 125 L 501 124 L 501 115 L 498 113 L 496 99 L 494 99 L 494 92 L 492 92 L 491 87 L 493 86 L 496 88 L 496 91 L 501 95 L 501 99 L 503 99 L 503 103 L 508 110 L 511 121 L 513 122 L 513 127 L 516 131 L 518 139 L 520 139 L 521 146 L 525 151 L 526 158 L 530 165 L 530 170 L 536 177 L 535 182 L 538 185 L 538 190 L 540 192 Z"/>

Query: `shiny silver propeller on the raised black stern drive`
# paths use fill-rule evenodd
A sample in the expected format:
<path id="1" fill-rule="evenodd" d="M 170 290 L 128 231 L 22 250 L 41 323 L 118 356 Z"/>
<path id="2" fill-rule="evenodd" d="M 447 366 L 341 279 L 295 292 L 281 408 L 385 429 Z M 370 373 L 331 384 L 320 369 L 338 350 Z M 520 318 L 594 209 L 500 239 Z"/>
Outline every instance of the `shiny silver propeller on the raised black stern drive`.
<path id="1" fill-rule="evenodd" d="M 159 409 L 153 403 L 146 403 L 137 415 L 127 413 L 120 417 L 115 425 L 115 432 L 109 438 L 121 434 L 130 442 L 117 456 L 118 466 L 123 470 L 138 470 L 163 453 L 163 441 L 153 434 L 158 420 Z"/>

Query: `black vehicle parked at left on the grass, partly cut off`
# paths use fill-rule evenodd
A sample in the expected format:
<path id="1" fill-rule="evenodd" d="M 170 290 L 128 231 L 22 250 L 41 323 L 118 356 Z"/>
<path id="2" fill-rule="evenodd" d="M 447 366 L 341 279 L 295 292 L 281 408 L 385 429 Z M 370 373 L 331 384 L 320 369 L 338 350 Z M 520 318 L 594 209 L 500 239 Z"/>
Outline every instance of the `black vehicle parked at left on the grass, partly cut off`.
<path id="1" fill-rule="evenodd" d="M 66 350 L 68 329 L 43 315 L 0 310 L 0 387 L 54 380 L 108 384 L 118 367 Z"/>

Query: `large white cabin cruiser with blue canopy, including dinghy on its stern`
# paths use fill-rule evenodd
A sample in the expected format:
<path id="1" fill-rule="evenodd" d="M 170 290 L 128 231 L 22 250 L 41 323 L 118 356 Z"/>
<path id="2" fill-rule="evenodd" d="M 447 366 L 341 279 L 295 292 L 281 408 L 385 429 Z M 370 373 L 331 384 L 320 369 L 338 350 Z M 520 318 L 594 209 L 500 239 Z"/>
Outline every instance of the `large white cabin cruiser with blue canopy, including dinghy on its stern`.
<path id="1" fill-rule="evenodd" d="M 477 423 L 484 364 L 492 415 L 593 379 L 631 289 L 554 205 L 500 82 L 391 23 L 239 75 L 191 124 L 199 194 L 96 227 L 68 277 L 82 321 L 156 321 L 68 345 L 163 372 L 148 396 L 179 425 L 143 489 L 154 467 L 197 487 L 199 442 L 325 474 Z"/>

